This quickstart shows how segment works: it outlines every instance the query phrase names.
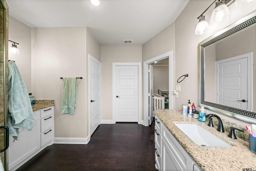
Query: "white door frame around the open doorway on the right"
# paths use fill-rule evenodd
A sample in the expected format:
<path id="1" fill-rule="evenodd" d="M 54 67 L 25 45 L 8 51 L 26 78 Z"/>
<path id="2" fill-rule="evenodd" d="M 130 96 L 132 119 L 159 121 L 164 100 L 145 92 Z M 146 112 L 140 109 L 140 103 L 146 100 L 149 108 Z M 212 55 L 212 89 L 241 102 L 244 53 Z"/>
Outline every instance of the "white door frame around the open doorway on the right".
<path id="1" fill-rule="evenodd" d="M 172 94 L 172 73 L 173 73 L 173 68 L 172 68 L 172 51 L 169 51 L 169 52 L 166 52 L 166 53 L 163 53 L 162 55 L 159 55 L 159 56 L 156 56 L 152 59 L 149 59 L 147 61 L 144 61 L 144 113 L 143 113 L 143 116 L 144 116 L 144 126 L 149 126 L 152 122 L 152 109 L 151 109 L 151 98 L 152 98 L 152 95 L 151 95 L 151 90 L 150 90 L 150 85 L 149 85 L 149 81 L 150 81 L 150 77 L 148 76 L 149 75 L 149 72 L 150 72 L 150 69 L 149 69 L 149 65 L 151 63 L 154 63 L 155 61 L 159 61 L 159 60 L 162 60 L 162 59 L 166 59 L 166 58 L 169 58 L 169 94 Z M 172 96 L 169 97 L 169 103 L 168 103 L 168 108 L 172 110 Z"/>

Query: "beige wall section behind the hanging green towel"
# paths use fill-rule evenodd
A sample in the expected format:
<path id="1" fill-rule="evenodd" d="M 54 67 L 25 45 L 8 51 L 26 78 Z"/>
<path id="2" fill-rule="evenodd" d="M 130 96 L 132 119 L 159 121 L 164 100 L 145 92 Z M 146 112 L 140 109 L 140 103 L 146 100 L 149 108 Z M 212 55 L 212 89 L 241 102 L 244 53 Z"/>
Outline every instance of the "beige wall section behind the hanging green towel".
<path id="1" fill-rule="evenodd" d="M 77 79 L 74 115 L 60 114 L 63 81 Z M 54 99 L 55 137 L 86 138 L 86 28 L 32 28 L 32 92 Z"/>

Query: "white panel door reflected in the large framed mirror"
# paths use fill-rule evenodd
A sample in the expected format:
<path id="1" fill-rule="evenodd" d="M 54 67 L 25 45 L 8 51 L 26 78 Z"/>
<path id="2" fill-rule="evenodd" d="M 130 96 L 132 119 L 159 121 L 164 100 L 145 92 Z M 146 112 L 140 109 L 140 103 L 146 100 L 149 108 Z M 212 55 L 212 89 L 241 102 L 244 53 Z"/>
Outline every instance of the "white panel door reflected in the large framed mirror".
<path id="1" fill-rule="evenodd" d="M 247 58 L 217 61 L 217 71 L 217 103 L 247 110 Z"/>

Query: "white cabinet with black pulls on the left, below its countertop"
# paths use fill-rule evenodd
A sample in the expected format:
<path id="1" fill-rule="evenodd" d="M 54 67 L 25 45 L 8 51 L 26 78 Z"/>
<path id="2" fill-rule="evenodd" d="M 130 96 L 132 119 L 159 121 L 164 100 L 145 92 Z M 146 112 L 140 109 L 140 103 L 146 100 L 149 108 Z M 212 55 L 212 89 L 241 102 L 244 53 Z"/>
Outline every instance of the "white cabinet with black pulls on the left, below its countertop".
<path id="1" fill-rule="evenodd" d="M 9 171 L 15 171 L 54 140 L 54 106 L 34 113 L 34 127 L 31 131 L 20 129 L 19 140 L 9 138 Z"/>

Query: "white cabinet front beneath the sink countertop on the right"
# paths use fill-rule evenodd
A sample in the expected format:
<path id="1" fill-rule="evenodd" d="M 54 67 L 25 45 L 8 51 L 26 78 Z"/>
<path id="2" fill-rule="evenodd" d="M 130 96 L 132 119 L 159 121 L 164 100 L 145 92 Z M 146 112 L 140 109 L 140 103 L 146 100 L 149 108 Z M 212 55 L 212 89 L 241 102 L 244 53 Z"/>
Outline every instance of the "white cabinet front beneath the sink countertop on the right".
<path id="1" fill-rule="evenodd" d="M 159 128 L 161 130 L 158 130 Z M 159 137 L 157 132 L 159 132 Z M 160 145 L 158 145 L 159 139 Z M 156 154 L 156 151 L 159 156 Z M 159 171 L 201 170 L 157 116 L 155 118 L 155 159 L 156 169 Z"/>

